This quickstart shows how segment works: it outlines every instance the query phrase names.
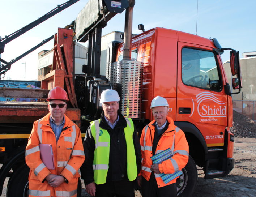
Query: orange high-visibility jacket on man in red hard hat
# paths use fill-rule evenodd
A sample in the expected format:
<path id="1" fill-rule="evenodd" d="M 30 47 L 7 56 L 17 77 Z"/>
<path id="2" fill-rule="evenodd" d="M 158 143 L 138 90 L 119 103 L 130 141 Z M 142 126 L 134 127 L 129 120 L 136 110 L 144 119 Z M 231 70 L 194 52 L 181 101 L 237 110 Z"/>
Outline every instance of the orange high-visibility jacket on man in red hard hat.
<path id="1" fill-rule="evenodd" d="M 40 159 L 39 144 L 52 145 L 54 170 L 48 170 Z M 66 115 L 57 143 L 50 126 L 50 113 L 35 121 L 26 147 L 26 163 L 30 168 L 29 197 L 76 197 L 78 178 L 80 177 L 77 171 L 84 160 L 80 129 Z M 51 187 L 45 180 L 49 174 L 62 175 L 68 180 L 68 183 L 64 182 L 58 187 Z"/>

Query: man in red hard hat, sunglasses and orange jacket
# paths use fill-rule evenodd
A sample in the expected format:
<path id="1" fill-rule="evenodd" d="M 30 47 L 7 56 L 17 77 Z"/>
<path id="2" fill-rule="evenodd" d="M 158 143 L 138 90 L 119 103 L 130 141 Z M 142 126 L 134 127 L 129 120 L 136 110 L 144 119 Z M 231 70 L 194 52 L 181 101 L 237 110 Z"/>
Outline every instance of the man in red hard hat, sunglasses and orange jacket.
<path id="1" fill-rule="evenodd" d="M 64 113 L 68 95 L 55 87 L 47 101 L 49 114 L 34 122 L 26 147 L 26 163 L 30 168 L 29 197 L 76 197 L 78 169 L 85 160 L 80 129 Z M 39 144 L 50 144 L 54 169 L 48 169 L 40 158 Z"/>

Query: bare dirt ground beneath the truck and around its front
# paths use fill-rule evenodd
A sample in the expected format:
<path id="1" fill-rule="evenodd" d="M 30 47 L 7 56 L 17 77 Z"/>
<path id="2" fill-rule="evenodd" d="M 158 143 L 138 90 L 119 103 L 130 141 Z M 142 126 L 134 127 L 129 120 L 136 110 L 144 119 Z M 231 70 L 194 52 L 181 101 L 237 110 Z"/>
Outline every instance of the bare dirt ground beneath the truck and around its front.
<path id="1" fill-rule="evenodd" d="M 256 197 L 256 138 L 235 137 L 233 158 L 235 167 L 226 177 L 205 180 L 204 171 L 199 170 L 192 196 Z M 84 185 L 82 187 L 82 197 L 88 197 Z M 141 197 L 138 191 L 135 196 Z"/>

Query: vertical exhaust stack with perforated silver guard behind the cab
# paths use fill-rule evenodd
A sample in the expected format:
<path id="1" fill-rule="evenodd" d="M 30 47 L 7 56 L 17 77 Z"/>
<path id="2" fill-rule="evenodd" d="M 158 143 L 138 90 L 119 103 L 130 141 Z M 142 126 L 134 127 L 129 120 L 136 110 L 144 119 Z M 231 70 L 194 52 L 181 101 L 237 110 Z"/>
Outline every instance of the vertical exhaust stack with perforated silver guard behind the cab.
<path id="1" fill-rule="evenodd" d="M 120 97 L 119 110 L 124 117 L 141 118 L 143 63 L 131 59 L 132 13 L 135 0 L 125 10 L 123 60 L 106 67 L 106 77 Z"/>

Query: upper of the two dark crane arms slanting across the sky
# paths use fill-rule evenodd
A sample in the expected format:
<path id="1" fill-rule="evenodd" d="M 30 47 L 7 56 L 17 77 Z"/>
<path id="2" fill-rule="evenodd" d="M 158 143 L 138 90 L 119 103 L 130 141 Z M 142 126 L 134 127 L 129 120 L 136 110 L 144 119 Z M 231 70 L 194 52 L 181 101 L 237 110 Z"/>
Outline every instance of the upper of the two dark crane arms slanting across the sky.
<path id="1" fill-rule="evenodd" d="M 79 1 L 79 0 L 69 0 L 61 5 L 58 5 L 56 8 L 52 9 L 50 12 L 44 14 L 44 16 L 31 22 L 30 24 L 26 25 L 25 27 L 22 27 L 21 29 L 15 31 L 14 33 L 12 33 L 10 35 L 6 35 L 4 38 L 1 38 L 0 39 L 0 54 L 4 52 L 5 44 L 9 43 L 10 41 L 14 40 L 15 38 L 19 37 L 20 35 L 24 34 L 27 31 L 29 31 L 30 29 L 34 28 L 35 26 L 39 25 L 40 23 L 46 21 L 48 18 L 51 18 L 55 14 L 68 8 L 69 6 L 76 3 L 77 1 Z"/>

